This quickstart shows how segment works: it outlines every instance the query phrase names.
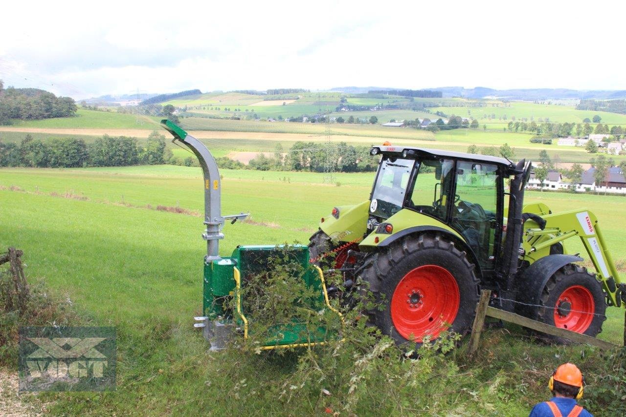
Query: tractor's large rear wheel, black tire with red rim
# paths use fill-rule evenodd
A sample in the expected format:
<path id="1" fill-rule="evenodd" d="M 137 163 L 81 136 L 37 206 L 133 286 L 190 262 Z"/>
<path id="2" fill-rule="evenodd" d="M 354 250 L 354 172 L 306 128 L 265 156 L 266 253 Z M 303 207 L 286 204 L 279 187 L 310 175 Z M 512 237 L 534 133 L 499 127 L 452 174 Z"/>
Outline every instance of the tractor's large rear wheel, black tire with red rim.
<path id="1" fill-rule="evenodd" d="M 436 338 L 444 316 L 453 318 L 450 331 L 466 334 L 471 328 L 479 293 L 475 265 L 439 235 L 407 236 L 371 252 L 357 271 L 360 280 L 369 283 L 376 304 L 382 304 L 371 318 L 398 345 L 421 344 L 427 334 Z"/>

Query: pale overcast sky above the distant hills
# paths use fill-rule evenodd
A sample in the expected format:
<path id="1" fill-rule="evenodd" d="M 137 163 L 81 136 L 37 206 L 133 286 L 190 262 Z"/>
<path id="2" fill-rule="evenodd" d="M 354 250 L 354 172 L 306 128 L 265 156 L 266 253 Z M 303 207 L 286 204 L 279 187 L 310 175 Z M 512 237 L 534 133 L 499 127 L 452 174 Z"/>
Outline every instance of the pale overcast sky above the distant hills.
<path id="1" fill-rule="evenodd" d="M 0 79 L 74 98 L 336 86 L 626 89 L 622 1 L 11 1 Z"/>

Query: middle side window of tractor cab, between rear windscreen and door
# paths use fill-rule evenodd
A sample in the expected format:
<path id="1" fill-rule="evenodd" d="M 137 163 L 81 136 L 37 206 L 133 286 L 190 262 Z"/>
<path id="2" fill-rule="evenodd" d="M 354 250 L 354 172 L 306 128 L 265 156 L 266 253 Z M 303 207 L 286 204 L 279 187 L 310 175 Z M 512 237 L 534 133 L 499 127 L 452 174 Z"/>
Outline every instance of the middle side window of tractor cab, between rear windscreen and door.
<path id="1" fill-rule="evenodd" d="M 426 159 L 419 162 L 410 207 L 420 213 L 446 220 L 452 190 L 454 162 L 448 159 Z"/>

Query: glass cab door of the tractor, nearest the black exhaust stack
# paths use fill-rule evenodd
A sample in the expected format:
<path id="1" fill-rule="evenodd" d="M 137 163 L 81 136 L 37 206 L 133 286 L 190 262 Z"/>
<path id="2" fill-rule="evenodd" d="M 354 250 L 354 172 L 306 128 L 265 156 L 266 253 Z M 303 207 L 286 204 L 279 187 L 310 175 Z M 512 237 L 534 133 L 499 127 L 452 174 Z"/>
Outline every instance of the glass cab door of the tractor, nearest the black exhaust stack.
<path id="1" fill-rule="evenodd" d="M 474 250 L 483 270 L 495 267 L 501 176 L 489 163 L 458 161 L 451 225 Z"/>

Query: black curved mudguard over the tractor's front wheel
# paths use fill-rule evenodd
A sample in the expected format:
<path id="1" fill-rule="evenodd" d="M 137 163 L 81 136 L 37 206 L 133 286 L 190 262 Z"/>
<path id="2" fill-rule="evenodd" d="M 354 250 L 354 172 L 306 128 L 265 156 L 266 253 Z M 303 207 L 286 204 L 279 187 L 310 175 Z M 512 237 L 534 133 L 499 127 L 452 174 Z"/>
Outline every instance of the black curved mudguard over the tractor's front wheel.
<path id="1" fill-rule="evenodd" d="M 546 286 L 548 279 L 567 264 L 572 262 L 580 262 L 583 260 L 576 255 L 548 255 L 541 259 L 536 260 L 516 279 L 516 290 L 519 296 L 516 301 L 523 302 L 525 304 L 538 305 L 541 297 L 541 292 Z M 537 309 L 533 309 L 531 306 L 525 306 L 523 304 L 516 304 L 516 311 L 520 312 L 526 317 L 530 317 L 533 312 L 537 312 Z M 535 319 L 536 317 L 530 317 Z"/>

